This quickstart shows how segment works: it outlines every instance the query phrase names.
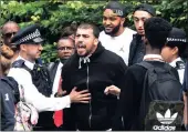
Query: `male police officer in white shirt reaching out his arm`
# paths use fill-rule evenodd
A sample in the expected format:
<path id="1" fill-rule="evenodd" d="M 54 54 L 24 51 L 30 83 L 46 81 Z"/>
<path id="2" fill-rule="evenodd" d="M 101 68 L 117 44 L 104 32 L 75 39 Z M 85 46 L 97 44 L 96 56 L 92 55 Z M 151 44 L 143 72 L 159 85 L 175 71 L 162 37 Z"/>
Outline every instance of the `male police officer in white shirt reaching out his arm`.
<path id="1" fill-rule="evenodd" d="M 13 77 L 24 90 L 24 99 L 32 103 L 39 114 L 38 126 L 34 130 L 53 130 L 53 114 L 44 111 L 58 111 L 70 108 L 72 102 L 87 103 L 87 90 L 76 92 L 76 88 L 63 98 L 50 98 L 52 93 L 50 77 L 46 69 L 39 65 L 35 60 L 43 50 L 40 27 L 33 24 L 20 30 L 13 38 L 12 44 L 19 48 L 19 57 L 13 62 L 9 75 Z M 49 119 L 51 118 L 51 119 Z"/>

